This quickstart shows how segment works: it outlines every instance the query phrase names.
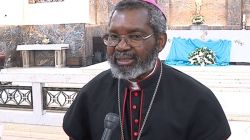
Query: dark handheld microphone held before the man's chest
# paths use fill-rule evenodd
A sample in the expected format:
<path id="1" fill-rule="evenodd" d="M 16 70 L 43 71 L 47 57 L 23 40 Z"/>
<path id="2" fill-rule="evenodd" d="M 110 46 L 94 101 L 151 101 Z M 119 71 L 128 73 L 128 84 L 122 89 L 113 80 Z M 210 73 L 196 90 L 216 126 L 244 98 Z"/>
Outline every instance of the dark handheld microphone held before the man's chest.
<path id="1" fill-rule="evenodd" d="M 108 113 L 104 119 L 104 132 L 101 140 L 110 140 L 112 131 L 119 125 L 119 116 L 115 113 Z"/>

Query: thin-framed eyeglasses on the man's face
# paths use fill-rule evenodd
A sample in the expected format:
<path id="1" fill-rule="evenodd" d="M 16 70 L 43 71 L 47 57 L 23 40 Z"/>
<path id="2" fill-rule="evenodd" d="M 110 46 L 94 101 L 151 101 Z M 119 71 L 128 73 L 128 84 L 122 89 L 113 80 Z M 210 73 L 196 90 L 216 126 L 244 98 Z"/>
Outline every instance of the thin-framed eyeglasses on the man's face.
<path id="1" fill-rule="evenodd" d="M 141 34 L 127 34 L 127 35 L 117 35 L 117 34 L 106 34 L 103 36 L 103 42 L 108 47 L 116 47 L 124 38 L 125 42 L 131 46 L 140 46 L 144 40 L 150 38 L 154 33 L 143 36 Z"/>

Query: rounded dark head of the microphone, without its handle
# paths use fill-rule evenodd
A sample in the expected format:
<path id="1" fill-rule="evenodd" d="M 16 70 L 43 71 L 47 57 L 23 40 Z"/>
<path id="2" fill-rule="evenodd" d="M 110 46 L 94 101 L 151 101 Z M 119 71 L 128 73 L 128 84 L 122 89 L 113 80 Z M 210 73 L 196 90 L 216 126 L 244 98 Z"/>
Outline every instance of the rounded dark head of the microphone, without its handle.
<path id="1" fill-rule="evenodd" d="M 115 129 L 119 125 L 119 116 L 115 113 L 108 113 L 104 119 L 104 128 Z"/>

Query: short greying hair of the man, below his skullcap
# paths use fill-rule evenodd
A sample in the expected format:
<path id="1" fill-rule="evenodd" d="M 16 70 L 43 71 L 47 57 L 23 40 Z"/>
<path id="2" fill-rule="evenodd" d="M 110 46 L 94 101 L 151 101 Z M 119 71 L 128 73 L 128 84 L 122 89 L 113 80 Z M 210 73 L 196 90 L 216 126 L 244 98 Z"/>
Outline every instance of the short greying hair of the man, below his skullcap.
<path id="1" fill-rule="evenodd" d="M 109 18 L 109 26 L 111 18 L 115 11 L 121 11 L 125 9 L 138 9 L 145 8 L 148 10 L 148 21 L 150 27 L 152 27 L 154 34 L 159 35 L 160 33 L 165 33 L 167 29 L 167 19 L 160 9 L 156 6 L 144 2 L 142 0 L 122 0 L 114 7 L 111 16 Z"/>

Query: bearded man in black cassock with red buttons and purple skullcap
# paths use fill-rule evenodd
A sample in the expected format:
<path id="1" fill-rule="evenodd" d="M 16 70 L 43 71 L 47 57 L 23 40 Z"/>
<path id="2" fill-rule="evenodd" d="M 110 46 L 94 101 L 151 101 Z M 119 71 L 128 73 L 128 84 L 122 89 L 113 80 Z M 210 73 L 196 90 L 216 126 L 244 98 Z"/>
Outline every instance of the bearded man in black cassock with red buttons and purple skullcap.
<path id="1" fill-rule="evenodd" d="M 107 113 L 119 114 L 112 140 L 225 140 L 231 132 L 214 94 L 162 64 L 166 18 L 152 0 L 123 0 L 104 36 L 111 69 L 85 85 L 64 117 L 72 140 L 100 140 Z M 122 126 L 122 127 L 120 127 Z"/>

